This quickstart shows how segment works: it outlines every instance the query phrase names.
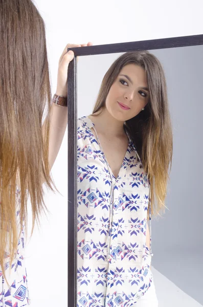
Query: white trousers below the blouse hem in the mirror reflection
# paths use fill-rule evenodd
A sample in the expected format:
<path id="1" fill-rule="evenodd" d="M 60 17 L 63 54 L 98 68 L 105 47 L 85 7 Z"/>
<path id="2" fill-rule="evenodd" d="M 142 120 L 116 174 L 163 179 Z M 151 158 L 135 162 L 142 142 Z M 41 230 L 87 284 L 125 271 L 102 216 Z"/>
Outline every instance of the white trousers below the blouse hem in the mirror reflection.
<path id="1" fill-rule="evenodd" d="M 158 300 L 156 297 L 156 291 L 153 279 L 151 286 L 149 287 L 147 292 L 145 292 L 145 294 L 141 296 L 137 301 L 137 303 L 132 305 L 132 307 L 158 307 Z"/>

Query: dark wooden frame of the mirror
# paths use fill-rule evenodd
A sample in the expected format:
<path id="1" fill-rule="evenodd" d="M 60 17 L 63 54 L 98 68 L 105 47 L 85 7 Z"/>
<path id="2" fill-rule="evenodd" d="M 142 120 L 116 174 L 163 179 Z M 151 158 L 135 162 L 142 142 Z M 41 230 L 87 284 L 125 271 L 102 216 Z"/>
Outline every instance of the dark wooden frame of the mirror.
<path id="1" fill-rule="evenodd" d="M 68 307 L 77 306 L 77 56 L 122 53 L 135 50 L 155 50 L 197 45 L 203 45 L 203 34 L 67 49 L 67 51 L 73 50 L 74 52 L 74 59 L 69 64 L 67 81 L 67 91 L 69 93 L 67 106 Z"/>

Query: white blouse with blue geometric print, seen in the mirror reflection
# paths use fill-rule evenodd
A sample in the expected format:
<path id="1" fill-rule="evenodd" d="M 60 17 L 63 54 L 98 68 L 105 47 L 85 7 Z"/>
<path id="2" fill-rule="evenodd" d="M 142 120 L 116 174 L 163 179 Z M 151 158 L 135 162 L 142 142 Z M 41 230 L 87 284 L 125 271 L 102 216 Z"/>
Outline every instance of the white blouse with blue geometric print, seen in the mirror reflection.
<path id="1" fill-rule="evenodd" d="M 78 119 L 77 306 L 128 307 L 153 279 L 150 185 L 129 136 L 115 178 L 91 128 L 89 117 Z"/>

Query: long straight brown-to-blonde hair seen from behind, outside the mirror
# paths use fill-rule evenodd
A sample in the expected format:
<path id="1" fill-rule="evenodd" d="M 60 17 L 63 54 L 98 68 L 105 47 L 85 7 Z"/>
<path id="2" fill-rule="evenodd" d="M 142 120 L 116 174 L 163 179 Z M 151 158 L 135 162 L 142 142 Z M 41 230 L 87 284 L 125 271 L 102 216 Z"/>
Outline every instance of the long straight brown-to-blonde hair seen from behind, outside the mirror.
<path id="1" fill-rule="evenodd" d="M 26 234 L 28 195 L 32 235 L 35 222 L 40 225 L 42 211 L 48 212 L 42 176 L 52 191 L 52 185 L 56 187 L 48 159 L 51 87 L 44 21 L 31 0 L 1 0 L 0 32 L 0 265 L 5 275 L 5 252 L 12 262 L 20 235 L 16 221 L 17 179 L 20 230 L 24 225 Z M 44 110 L 47 120 L 43 130 Z"/>

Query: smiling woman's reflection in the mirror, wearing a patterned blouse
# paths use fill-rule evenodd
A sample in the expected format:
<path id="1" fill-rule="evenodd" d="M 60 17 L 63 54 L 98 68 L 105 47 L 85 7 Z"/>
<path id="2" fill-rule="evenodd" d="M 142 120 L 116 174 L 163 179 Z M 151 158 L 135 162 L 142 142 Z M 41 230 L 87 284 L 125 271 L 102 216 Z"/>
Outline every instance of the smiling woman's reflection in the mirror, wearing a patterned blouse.
<path id="1" fill-rule="evenodd" d="M 155 307 L 151 231 L 164 208 L 172 129 L 166 81 L 148 51 L 105 74 L 78 119 L 78 306 Z M 156 197 L 156 205 L 155 205 Z"/>

